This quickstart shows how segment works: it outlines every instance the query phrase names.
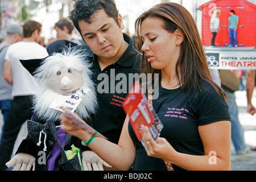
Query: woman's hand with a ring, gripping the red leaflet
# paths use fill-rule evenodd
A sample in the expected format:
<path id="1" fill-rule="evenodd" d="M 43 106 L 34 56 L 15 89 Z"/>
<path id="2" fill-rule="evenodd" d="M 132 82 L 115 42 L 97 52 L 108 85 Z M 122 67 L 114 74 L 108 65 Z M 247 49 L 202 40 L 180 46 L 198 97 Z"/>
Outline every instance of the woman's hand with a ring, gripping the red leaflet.
<path id="1" fill-rule="evenodd" d="M 175 158 L 177 152 L 165 138 L 158 137 L 155 141 L 148 130 L 148 127 L 142 126 L 142 139 L 146 147 L 147 155 L 160 158 L 171 162 L 170 159 Z"/>

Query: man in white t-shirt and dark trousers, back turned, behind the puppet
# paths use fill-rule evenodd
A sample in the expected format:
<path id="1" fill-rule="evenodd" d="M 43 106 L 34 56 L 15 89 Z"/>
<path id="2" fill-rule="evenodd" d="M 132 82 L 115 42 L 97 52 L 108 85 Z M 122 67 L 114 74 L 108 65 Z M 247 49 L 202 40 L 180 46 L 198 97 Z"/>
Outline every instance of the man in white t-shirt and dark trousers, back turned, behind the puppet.
<path id="1" fill-rule="evenodd" d="M 0 144 L 0 170 L 5 170 L 5 163 L 11 158 L 20 127 L 32 115 L 31 96 L 36 92 L 37 82 L 19 60 L 48 56 L 46 48 L 39 44 L 41 32 L 42 24 L 28 20 L 23 26 L 23 41 L 12 44 L 6 52 L 3 76 L 13 85 L 14 99 Z"/>

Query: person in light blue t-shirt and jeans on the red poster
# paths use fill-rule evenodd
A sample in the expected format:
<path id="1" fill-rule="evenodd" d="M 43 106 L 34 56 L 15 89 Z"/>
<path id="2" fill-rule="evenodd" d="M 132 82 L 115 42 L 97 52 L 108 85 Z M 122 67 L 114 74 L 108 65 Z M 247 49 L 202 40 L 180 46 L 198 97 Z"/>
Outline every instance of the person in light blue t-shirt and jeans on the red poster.
<path id="1" fill-rule="evenodd" d="M 229 23 L 228 23 L 228 31 L 229 31 L 229 46 L 228 47 L 237 47 L 237 26 L 239 17 L 235 15 L 234 10 L 229 11 Z"/>

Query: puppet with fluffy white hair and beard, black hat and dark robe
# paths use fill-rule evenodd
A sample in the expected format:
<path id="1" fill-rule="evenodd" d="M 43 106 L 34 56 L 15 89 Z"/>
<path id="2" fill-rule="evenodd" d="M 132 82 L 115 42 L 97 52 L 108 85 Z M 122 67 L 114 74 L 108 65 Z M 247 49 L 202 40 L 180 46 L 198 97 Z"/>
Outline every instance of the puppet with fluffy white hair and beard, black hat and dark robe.
<path id="1" fill-rule="evenodd" d="M 22 159 L 20 164 L 27 161 L 28 165 L 20 167 L 14 157 L 11 160 L 16 160 L 17 168 L 26 170 L 32 165 L 35 170 L 82 170 L 83 146 L 78 138 L 60 129 L 59 106 L 64 103 L 90 123 L 90 115 L 97 108 L 95 86 L 85 52 L 76 44 L 58 45 L 47 47 L 49 56 L 44 59 L 20 60 L 38 80 L 39 88 L 32 98 L 34 114 L 27 121 L 28 136 L 16 152 L 18 160 Z"/>

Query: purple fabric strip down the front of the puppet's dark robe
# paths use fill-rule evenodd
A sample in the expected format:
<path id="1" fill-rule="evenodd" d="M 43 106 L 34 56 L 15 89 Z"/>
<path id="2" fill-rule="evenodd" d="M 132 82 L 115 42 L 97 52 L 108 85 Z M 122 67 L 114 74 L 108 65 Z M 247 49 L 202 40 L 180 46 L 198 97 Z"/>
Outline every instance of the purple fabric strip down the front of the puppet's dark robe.
<path id="1" fill-rule="evenodd" d="M 65 131 L 59 130 L 57 131 L 57 134 L 59 136 L 60 144 L 62 147 L 65 145 Z M 53 143 L 52 148 L 52 154 L 49 156 L 49 159 L 47 160 L 47 171 L 57 171 L 58 167 L 55 165 L 56 158 L 60 155 L 60 147 L 57 144 L 56 141 Z"/>

